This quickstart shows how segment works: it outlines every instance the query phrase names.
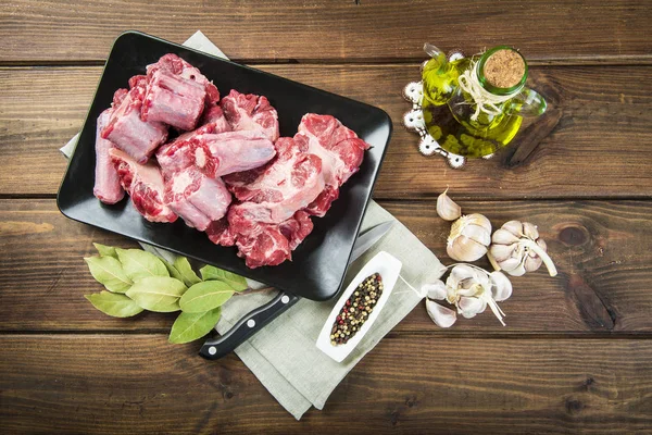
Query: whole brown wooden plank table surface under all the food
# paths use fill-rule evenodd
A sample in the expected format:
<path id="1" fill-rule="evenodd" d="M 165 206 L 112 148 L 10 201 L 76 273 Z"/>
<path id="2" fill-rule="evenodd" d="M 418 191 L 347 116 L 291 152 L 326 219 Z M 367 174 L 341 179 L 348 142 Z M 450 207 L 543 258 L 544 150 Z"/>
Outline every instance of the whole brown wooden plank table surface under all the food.
<path id="1" fill-rule="evenodd" d="M 652 427 L 652 2 L 9 0 L 0 3 L 0 432 L 632 433 Z M 444 263 L 447 186 L 494 225 L 539 225 L 560 274 L 514 278 L 450 330 L 423 306 L 297 422 L 235 356 L 170 345 L 173 315 L 108 318 L 91 243 L 65 219 L 58 149 L 82 126 L 123 30 L 201 29 L 237 62 L 386 110 L 375 198 Z M 422 46 L 522 49 L 561 119 L 523 162 L 462 171 L 401 126 Z"/>

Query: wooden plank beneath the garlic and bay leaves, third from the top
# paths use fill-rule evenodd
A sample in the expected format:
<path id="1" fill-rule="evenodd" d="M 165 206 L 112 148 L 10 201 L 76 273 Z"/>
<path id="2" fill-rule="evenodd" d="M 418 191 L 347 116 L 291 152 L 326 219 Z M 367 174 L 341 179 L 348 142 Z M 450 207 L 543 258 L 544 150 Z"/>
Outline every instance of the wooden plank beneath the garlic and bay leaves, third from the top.
<path id="1" fill-rule="evenodd" d="M 454 192 L 453 192 L 454 198 Z M 544 271 L 514 277 L 501 303 L 506 327 L 487 311 L 437 328 L 423 306 L 399 332 L 474 335 L 645 334 L 652 332 L 652 202 L 460 201 L 465 213 L 485 213 L 494 225 L 527 220 L 539 225 L 560 275 Z M 381 202 L 444 264 L 449 224 L 434 201 Z M 67 220 L 53 200 L 0 200 L 0 331 L 152 331 L 167 333 L 175 314 L 109 318 L 83 295 L 99 291 L 83 258 L 92 241 L 122 247 L 127 239 Z M 221 248 L 216 248 L 221 249 Z M 488 264 L 480 263 L 486 266 Z"/>

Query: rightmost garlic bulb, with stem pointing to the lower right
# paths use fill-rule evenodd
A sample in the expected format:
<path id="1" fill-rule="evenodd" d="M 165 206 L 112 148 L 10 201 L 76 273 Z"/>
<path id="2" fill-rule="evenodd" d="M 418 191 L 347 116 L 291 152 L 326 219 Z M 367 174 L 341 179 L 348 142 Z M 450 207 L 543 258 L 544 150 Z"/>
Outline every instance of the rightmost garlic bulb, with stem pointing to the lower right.
<path id="1" fill-rule="evenodd" d="M 487 257 L 493 269 L 503 270 L 512 276 L 534 272 L 542 263 L 546 263 L 550 276 L 555 276 L 556 268 L 546 251 L 546 241 L 539 238 L 535 225 L 510 221 L 493 233 Z"/>

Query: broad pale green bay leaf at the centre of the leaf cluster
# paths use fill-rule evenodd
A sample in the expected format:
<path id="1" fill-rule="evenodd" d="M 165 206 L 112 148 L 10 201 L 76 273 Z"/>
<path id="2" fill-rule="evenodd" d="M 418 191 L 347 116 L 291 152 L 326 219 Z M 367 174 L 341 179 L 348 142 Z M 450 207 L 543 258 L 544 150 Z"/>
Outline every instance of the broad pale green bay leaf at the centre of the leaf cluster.
<path id="1" fill-rule="evenodd" d="M 149 311 L 171 312 L 179 310 L 179 298 L 187 290 L 184 283 L 170 276 L 148 276 L 138 279 L 127 296 Z"/>

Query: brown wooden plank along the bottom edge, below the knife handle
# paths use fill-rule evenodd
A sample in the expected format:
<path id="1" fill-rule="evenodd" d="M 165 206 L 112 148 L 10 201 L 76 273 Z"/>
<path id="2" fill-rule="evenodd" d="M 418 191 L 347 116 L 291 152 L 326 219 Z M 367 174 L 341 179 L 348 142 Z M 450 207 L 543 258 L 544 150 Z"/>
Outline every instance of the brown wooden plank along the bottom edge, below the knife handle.
<path id="1" fill-rule="evenodd" d="M 161 336 L 0 336 L 3 433 L 650 433 L 652 341 L 383 340 L 297 423 L 231 356 Z M 246 418 L 243 418 L 246 415 Z"/>

